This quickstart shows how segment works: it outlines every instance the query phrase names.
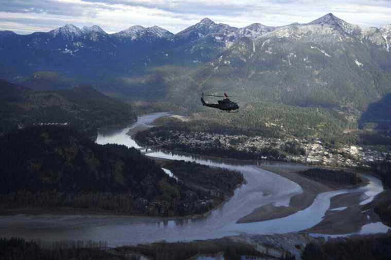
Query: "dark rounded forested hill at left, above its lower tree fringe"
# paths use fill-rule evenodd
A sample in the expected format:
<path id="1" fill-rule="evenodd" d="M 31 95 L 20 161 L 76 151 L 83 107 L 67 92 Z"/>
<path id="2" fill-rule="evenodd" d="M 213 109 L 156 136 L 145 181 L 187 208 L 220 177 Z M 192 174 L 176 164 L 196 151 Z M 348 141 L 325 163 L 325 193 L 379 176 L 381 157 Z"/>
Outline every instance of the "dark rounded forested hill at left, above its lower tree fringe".
<path id="1" fill-rule="evenodd" d="M 0 139 L 1 193 L 17 191 L 130 192 L 143 195 L 148 185 L 166 177 L 137 150 L 98 145 L 65 126 L 35 126 Z"/>

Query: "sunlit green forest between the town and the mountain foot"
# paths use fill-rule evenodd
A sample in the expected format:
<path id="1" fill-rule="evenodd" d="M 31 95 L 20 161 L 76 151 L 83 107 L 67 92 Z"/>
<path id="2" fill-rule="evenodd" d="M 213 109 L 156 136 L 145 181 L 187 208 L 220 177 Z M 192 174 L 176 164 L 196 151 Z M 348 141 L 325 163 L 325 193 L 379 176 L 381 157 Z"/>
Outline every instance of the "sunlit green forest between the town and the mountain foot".
<path id="1" fill-rule="evenodd" d="M 201 116 L 202 115 L 202 116 Z M 335 110 L 314 107 L 295 107 L 271 102 L 254 102 L 240 108 L 239 113 L 218 113 L 202 109 L 193 120 L 183 122 L 162 119 L 162 131 L 197 131 L 225 135 L 263 136 L 265 138 L 321 138 L 328 142 L 357 141 L 345 135 L 345 129 L 356 123 Z M 140 140 L 140 142 L 142 142 Z"/>

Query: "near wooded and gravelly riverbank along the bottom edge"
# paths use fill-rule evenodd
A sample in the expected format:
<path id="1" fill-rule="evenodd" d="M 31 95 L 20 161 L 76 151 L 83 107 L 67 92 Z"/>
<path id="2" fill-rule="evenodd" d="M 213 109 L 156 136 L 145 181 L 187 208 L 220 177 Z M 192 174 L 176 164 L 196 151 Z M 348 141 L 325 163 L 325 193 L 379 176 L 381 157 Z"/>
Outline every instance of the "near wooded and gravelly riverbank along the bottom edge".
<path id="1" fill-rule="evenodd" d="M 324 243 L 323 238 L 307 234 L 284 234 L 266 236 L 229 236 L 218 239 L 193 242 L 158 242 L 143 245 L 108 247 L 104 241 L 68 240 L 50 243 L 46 240 L 24 240 L 23 238 L 2 238 L 0 243 L 4 260 L 15 258 L 69 259 L 88 257 L 96 260 L 114 259 L 299 259 L 309 243 Z M 273 242 L 273 244 L 272 244 Z M 7 250 L 12 247 L 15 250 Z M 34 250 L 30 250 L 34 248 Z M 16 257 L 17 256 L 17 257 Z"/>

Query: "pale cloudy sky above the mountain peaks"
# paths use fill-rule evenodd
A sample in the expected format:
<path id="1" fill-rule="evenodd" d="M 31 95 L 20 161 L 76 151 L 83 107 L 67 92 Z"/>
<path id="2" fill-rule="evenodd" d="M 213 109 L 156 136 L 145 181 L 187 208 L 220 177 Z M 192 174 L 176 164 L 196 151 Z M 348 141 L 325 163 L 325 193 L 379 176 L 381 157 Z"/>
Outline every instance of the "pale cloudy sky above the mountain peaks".
<path id="1" fill-rule="evenodd" d="M 276 26 L 329 12 L 362 27 L 391 24 L 391 0 L 0 0 L 0 30 L 26 34 L 97 24 L 112 33 L 158 25 L 176 33 L 204 17 L 236 27 Z"/>

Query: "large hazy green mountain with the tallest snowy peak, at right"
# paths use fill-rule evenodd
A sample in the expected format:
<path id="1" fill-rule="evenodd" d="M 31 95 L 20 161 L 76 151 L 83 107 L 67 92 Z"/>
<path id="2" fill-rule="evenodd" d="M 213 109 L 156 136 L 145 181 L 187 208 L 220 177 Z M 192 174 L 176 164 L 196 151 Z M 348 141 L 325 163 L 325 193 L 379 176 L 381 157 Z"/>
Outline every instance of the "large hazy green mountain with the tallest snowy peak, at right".
<path id="1" fill-rule="evenodd" d="M 186 88 L 182 93 L 229 92 L 244 104 L 263 100 L 356 114 L 391 91 L 391 55 L 384 40 L 371 40 L 381 32 L 369 38 L 328 14 L 240 38 L 193 71 L 187 84 L 177 84 Z M 181 95 L 170 93 L 173 99 Z"/>

